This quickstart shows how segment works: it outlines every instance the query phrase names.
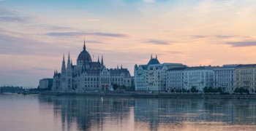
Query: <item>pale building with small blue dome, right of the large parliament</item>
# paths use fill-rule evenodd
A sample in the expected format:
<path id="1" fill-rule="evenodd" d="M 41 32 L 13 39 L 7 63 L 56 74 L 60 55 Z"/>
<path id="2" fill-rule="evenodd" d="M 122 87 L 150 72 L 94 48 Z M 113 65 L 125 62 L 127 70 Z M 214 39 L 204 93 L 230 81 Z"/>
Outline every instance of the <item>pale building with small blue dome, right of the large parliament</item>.
<path id="1" fill-rule="evenodd" d="M 170 68 L 185 67 L 181 63 L 159 63 L 157 56 L 146 65 L 135 65 L 134 79 L 136 91 L 165 91 L 166 71 Z"/>

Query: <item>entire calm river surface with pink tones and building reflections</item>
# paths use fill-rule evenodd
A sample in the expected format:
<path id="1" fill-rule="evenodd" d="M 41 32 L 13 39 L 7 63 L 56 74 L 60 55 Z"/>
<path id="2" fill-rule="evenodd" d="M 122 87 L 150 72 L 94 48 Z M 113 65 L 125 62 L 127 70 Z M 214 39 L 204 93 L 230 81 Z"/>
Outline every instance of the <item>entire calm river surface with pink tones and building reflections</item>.
<path id="1" fill-rule="evenodd" d="M 255 100 L 0 95 L 0 130 L 256 130 Z"/>

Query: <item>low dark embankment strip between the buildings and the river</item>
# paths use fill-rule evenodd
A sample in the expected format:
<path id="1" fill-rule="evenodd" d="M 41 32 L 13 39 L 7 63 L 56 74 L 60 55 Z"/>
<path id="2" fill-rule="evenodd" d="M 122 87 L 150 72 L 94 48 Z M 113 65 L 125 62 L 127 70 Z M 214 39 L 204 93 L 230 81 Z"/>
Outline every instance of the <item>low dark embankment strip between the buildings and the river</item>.
<path id="1" fill-rule="evenodd" d="M 41 92 L 41 95 L 95 95 L 95 96 L 118 96 L 118 97 L 131 97 L 131 98 L 203 98 L 203 99 L 255 99 L 256 95 L 248 94 L 192 94 L 192 93 L 137 93 L 137 92 L 84 92 L 84 93 L 55 93 L 55 92 Z"/>

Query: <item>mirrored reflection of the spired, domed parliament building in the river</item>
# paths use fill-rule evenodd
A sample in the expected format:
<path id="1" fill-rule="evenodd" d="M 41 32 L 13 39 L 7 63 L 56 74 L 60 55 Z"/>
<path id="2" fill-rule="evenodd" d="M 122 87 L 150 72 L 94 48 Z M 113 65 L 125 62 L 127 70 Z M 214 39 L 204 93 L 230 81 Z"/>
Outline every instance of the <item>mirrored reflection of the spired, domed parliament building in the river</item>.
<path id="1" fill-rule="evenodd" d="M 54 116 L 61 118 L 62 130 L 102 130 L 110 120 L 127 124 L 130 107 L 134 106 L 133 100 L 117 97 L 52 96 L 49 101 L 53 103 Z"/>

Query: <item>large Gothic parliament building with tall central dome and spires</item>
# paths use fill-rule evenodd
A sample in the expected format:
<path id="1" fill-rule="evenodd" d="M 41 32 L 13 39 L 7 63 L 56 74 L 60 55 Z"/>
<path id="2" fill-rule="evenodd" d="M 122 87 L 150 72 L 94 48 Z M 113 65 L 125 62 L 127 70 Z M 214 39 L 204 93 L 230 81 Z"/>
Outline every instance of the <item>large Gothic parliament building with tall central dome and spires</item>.
<path id="1" fill-rule="evenodd" d="M 78 55 L 77 65 L 73 65 L 68 55 L 67 68 L 63 56 L 61 73 L 54 71 L 53 92 L 88 92 L 111 90 L 113 84 L 132 87 L 132 77 L 127 68 L 106 68 L 103 57 L 91 60 L 84 41 L 83 50 Z"/>

